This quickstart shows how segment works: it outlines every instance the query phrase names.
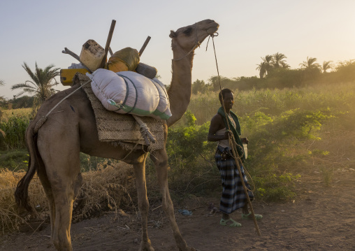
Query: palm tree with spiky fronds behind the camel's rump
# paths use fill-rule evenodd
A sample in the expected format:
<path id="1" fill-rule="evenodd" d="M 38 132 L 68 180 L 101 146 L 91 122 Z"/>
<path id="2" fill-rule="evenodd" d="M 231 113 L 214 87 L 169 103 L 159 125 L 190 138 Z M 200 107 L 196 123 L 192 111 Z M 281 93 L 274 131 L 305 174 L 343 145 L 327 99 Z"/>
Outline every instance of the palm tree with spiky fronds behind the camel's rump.
<path id="1" fill-rule="evenodd" d="M 48 99 L 50 96 L 52 96 L 52 94 L 55 94 L 56 91 L 53 89 L 53 86 L 58 85 L 55 77 L 59 76 L 60 68 L 52 69 L 54 64 L 50 64 L 49 66 L 45 67 L 45 69 L 41 69 L 38 68 L 36 63 L 36 69 L 34 72 L 32 72 L 25 62 L 22 67 L 25 71 L 27 71 L 31 77 L 31 80 L 26 80 L 24 83 L 13 85 L 13 87 L 11 87 L 11 89 L 22 89 L 22 92 L 16 96 L 20 96 L 25 92 L 35 94 L 36 99 L 38 99 L 38 102 L 41 104 L 45 101 L 45 99 Z"/>

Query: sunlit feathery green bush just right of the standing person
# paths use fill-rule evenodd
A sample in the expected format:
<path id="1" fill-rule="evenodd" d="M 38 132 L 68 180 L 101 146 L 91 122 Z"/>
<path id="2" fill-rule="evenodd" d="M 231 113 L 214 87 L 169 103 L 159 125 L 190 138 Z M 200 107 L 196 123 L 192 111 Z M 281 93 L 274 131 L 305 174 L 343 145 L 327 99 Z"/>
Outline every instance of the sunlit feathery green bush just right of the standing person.
<path id="1" fill-rule="evenodd" d="M 245 164 L 256 185 L 256 196 L 267 201 L 291 199 L 297 167 L 307 165 L 307 141 L 318 141 L 321 125 L 333 118 L 330 110 L 288 110 L 279 116 L 256 112 L 243 118 L 251 155 Z"/>

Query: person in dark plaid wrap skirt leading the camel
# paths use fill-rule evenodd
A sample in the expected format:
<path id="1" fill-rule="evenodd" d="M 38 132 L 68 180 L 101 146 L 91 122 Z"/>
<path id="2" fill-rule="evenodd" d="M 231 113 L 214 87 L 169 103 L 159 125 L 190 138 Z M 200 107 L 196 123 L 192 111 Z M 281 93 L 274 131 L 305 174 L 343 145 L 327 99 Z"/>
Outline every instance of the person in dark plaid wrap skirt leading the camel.
<path id="1" fill-rule="evenodd" d="M 210 131 L 208 132 L 208 141 L 218 141 L 215 161 L 222 178 L 222 198 L 219 210 L 223 213 L 219 224 L 229 227 L 242 227 L 242 224 L 231 219 L 230 214 L 235 210 L 242 208 L 242 219 L 252 219 L 252 213 L 249 212 L 247 196 L 242 187 L 242 180 L 238 172 L 236 161 L 229 145 L 229 135 L 233 135 L 236 143 L 239 164 L 242 171 L 242 177 L 248 189 L 250 200 L 254 199 L 247 178 L 245 177 L 242 163 L 245 162 L 244 149 L 242 143 L 248 143 L 247 138 L 240 138 L 240 124 L 238 117 L 231 111 L 234 104 L 234 94 L 231 89 L 222 89 L 219 92 L 219 101 L 222 107 L 217 114 L 212 117 Z M 223 103 L 222 103 L 223 102 Z M 224 112 L 224 107 L 226 112 Z M 228 123 L 228 124 L 227 124 Z M 229 129 L 231 129 L 229 131 Z M 260 220 L 262 215 L 255 215 L 256 220 Z"/>

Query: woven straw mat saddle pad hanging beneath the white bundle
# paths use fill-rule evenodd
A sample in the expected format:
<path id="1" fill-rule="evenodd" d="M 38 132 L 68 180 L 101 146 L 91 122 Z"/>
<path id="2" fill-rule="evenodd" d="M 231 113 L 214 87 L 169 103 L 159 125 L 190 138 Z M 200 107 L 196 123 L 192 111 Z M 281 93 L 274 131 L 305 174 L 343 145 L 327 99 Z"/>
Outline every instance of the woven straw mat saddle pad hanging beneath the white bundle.
<path id="1" fill-rule="evenodd" d="M 83 85 L 89 81 L 89 78 L 84 74 L 77 73 L 75 76 L 75 83 L 80 81 Z M 100 141 L 119 141 L 119 145 L 124 146 L 126 149 L 135 148 L 136 144 L 146 145 L 142 134 L 140 134 L 139 125 L 131 115 L 119 114 L 106 108 L 102 105 L 101 101 L 92 92 L 91 83 L 87 83 L 82 87 L 87 94 L 92 109 L 94 110 L 96 118 L 97 133 L 99 134 Z M 150 132 L 157 139 L 156 143 L 150 144 L 150 151 L 164 148 L 164 127 L 163 121 L 156 120 L 153 117 L 140 117 Z"/>

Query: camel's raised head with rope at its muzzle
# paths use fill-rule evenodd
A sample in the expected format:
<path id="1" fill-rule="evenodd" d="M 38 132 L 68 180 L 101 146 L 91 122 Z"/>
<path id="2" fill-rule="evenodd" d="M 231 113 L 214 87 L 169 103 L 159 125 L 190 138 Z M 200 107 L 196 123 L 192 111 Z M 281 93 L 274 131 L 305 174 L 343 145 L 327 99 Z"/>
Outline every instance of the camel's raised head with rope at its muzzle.
<path id="1" fill-rule="evenodd" d="M 177 31 L 171 31 L 171 47 L 173 50 L 187 53 L 194 50 L 205 38 L 215 34 L 218 27 L 217 22 L 207 19 L 182 27 Z"/>

